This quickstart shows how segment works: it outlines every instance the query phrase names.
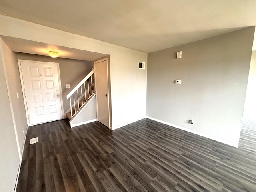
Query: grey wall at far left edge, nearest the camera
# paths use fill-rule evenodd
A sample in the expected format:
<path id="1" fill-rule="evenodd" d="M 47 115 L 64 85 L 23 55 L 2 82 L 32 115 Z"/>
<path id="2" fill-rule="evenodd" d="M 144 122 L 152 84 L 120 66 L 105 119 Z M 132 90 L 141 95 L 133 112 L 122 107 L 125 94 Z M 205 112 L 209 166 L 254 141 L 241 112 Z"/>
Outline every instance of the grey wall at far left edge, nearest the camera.
<path id="1" fill-rule="evenodd" d="M 4 72 L 4 50 L 0 40 L 0 191 L 13 192 L 19 168 L 19 152 Z"/>

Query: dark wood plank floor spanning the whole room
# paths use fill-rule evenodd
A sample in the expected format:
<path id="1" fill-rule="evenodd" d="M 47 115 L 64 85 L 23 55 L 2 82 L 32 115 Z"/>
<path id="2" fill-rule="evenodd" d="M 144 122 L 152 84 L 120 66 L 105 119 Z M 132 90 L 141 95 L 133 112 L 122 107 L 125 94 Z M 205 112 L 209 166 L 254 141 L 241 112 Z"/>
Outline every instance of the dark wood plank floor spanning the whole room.
<path id="1" fill-rule="evenodd" d="M 32 126 L 17 187 L 30 191 L 256 192 L 256 122 L 244 122 L 239 148 L 149 119 L 113 132 L 99 122 Z"/>

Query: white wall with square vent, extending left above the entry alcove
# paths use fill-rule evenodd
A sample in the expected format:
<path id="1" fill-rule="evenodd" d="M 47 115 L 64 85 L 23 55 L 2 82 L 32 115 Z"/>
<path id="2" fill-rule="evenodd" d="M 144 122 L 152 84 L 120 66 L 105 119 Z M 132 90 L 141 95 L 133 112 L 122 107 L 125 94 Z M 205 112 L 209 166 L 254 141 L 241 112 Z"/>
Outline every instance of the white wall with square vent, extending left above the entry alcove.
<path id="1" fill-rule="evenodd" d="M 3 15 L 0 26 L 0 35 L 110 55 L 112 128 L 146 116 L 146 53 Z"/>

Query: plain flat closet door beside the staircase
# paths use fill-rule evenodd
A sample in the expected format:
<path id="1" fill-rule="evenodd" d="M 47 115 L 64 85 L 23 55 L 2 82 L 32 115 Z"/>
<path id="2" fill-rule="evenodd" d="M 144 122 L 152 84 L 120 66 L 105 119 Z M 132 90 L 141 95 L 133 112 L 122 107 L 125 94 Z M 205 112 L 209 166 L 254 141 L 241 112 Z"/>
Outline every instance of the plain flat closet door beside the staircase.
<path id="1" fill-rule="evenodd" d="M 108 63 L 107 60 L 94 62 L 98 121 L 109 128 Z"/>

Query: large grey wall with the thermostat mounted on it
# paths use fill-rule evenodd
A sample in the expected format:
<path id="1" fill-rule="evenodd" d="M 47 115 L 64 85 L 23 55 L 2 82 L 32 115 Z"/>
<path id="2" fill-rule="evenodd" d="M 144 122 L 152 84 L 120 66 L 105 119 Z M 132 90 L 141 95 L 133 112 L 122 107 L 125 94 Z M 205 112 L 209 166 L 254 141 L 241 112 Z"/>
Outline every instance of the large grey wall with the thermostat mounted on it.
<path id="1" fill-rule="evenodd" d="M 147 116 L 238 146 L 254 29 L 148 54 Z"/>

